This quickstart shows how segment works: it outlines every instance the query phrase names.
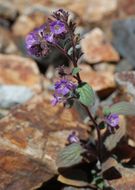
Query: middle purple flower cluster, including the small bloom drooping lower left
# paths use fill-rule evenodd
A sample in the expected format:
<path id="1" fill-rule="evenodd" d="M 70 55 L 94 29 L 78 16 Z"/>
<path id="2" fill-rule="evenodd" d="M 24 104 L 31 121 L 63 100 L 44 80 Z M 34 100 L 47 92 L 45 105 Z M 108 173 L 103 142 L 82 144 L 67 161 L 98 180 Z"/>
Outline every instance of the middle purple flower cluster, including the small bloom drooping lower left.
<path id="1" fill-rule="evenodd" d="M 52 99 L 52 105 L 55 106 L 57 103 L 66 102 L 67 99 L 72 97 L 73 91 L 77 85 L 67 78 L 61 78 L 54 85 L 55 93 Z"/>

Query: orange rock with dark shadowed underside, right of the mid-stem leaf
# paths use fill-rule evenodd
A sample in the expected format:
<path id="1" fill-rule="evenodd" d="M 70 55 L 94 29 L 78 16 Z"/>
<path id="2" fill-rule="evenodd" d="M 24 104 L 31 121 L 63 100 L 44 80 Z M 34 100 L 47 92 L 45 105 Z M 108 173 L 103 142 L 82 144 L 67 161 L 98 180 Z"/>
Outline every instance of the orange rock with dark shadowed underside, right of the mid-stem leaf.
<path id="1" fill-rule="evenodd" d="M 88 82 L 101 96 L 108 96 L 116 87 L 111 72 L 82 71 L 80 74 L 83 81 Z"/>

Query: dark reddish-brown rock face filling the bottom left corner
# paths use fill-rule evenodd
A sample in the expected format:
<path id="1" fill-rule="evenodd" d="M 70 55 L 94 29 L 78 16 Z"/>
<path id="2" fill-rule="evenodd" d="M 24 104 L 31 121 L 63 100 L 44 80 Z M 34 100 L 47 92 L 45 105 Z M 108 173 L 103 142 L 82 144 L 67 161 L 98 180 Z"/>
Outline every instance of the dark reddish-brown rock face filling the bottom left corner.
<path id="1" fill-rule="evenodd" d="M 53 176 L 47 166 L 8 148 L 0 148 L 0 189 L 34 190 Z"/>

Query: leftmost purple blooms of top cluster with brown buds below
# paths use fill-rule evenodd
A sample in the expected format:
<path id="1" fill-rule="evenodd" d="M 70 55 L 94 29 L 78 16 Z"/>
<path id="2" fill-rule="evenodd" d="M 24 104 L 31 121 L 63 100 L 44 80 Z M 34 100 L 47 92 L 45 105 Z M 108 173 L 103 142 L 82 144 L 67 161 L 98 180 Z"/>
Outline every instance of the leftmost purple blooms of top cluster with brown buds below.
<path id="1" fill-rule="evenodd" d="M 49 49 L 43 41 L 44 28 L 42 26 L 27 35 L 25 44 L 29 54 L 40 57 L 48 53 Z"/>

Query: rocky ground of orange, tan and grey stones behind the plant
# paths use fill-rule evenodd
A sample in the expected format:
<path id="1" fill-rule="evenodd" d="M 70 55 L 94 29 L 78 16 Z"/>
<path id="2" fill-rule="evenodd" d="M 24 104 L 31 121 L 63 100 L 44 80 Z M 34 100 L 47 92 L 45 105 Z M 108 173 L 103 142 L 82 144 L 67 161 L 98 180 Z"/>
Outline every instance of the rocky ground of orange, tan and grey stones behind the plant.
<path id="1" fill-rule="evenodd" d="M 135 101 L 135 0 L 0 0 L 0 190 L 77 190 L 56 182 L 55 159 L 71 131 L 86 139 L 88 128 L 75 108 L 50 104 L 55 68 L 68 60 L 57 51 L 30 57 L 24 44 L 57 8 L 77 22 L 81 76 L 96 91 L 97 104 Z M 120 133 L 132 147 L 134 120 L 124 118 L 128 127 Z M 135 171 L 118 168 L 124 175 L 110 184 L 134 190 Z"/>

